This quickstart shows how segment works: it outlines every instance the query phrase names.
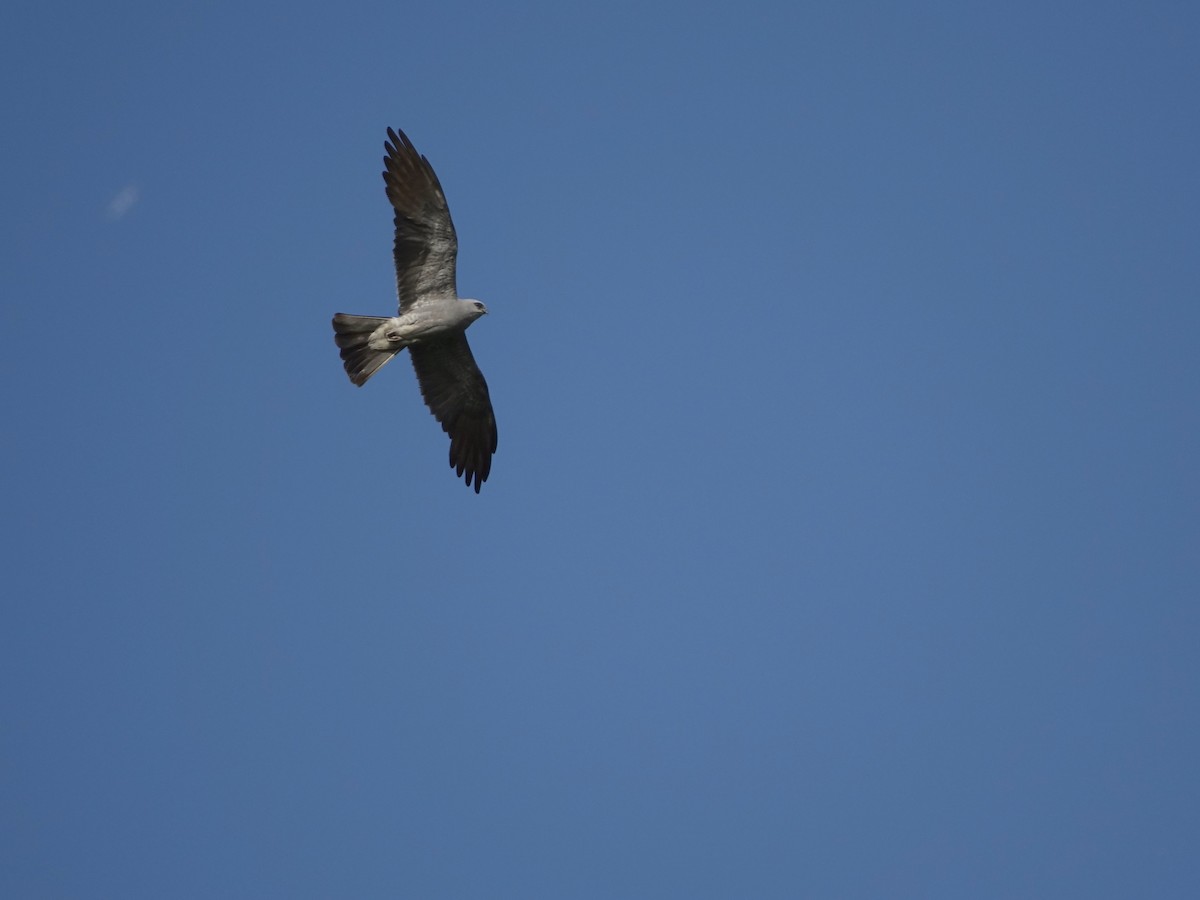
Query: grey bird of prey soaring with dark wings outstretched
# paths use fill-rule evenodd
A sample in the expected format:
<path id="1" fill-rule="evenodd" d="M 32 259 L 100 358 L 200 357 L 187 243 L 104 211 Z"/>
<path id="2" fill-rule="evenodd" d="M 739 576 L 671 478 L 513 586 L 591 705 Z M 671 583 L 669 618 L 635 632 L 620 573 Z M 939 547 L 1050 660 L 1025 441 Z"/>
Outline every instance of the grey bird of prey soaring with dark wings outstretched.
<path id="1" fill-rule="evenodd" d="M 334 341 L 350 382 L 361 388 L 403 349 L 425 404 L 450 436 L 450 468 L 475 493 L 492 470 L 496 415 L 467 328 L 487 307 L 458 296 L 458 236 L 430 161 L 400 128 L 388 128 L 383 180 L 395 210 L 398 314 L 334 316 Z"/>

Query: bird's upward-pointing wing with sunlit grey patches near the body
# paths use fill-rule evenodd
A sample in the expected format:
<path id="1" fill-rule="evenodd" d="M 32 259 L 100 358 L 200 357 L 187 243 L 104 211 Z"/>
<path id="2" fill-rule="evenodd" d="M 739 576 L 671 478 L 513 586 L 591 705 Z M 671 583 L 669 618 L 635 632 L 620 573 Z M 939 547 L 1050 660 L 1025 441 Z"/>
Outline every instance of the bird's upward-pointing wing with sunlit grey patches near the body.
<path id="1" fill-rule="evenodd" d="M 402 131 L 388 128 L 383 180 L 396 210 L 396 293 L 400 311 L 426 298 L 456 298 L 458 238 L 430 161 Z"/>

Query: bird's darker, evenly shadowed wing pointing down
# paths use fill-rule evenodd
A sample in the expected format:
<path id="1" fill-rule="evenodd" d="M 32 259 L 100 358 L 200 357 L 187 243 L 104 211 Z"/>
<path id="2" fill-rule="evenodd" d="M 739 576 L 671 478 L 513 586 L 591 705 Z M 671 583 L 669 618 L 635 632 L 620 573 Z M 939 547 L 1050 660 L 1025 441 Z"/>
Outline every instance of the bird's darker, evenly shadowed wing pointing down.
<path id="1" fill-rule="evenodd" d="M 475 493 L 492 470 L 496 416 L 487 382 L 475 365 L 462 332 L 422 341 L 408 348 L 421 385 L 421 396 L 442 430 L 450 436 L 450 466 Z"/>

